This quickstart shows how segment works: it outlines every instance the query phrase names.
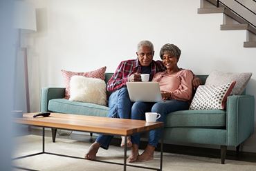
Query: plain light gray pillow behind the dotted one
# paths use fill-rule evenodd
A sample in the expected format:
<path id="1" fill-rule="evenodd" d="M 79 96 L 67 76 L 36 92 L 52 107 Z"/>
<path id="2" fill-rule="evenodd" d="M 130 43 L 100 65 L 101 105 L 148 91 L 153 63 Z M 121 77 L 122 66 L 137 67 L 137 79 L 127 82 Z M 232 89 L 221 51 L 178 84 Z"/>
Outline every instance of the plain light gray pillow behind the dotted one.
<path id="1" fill-rule="evenodd" d="M 235 87 L 232 90 L 233 95 L 240 95 L 244 89 L 250 77 L 253 73 L 235 73 L 235 72 L 221 72 L 214 70 L 210 72 L 208 78 L 205 81 L 205 86 L 221 86 L 225 83 L 230 83 L 231 81 L 236 81 Z"/>

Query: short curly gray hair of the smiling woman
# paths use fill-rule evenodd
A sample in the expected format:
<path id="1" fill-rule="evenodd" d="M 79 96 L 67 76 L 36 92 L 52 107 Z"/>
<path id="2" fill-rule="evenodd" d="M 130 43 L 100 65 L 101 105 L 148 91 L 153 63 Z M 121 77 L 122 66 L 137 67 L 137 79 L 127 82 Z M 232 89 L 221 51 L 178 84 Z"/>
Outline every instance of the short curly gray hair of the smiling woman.
<path id="1" fill-rule="evenodd" d="M 172 57 L 176 57 L 178 60 L 181 57 L 181 50 L 174 44 L 167 43 L 160 50 L 160 57 L 163 59 L 163 54 L 170 54 Z"/>

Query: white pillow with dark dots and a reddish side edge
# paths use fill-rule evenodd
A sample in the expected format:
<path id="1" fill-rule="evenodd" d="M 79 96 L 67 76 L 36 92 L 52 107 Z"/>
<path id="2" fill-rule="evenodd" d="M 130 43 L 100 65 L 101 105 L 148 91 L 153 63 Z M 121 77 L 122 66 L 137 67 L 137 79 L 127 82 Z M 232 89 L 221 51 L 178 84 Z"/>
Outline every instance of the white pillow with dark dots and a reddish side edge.
<path id="1" fill-rule="evenodd" d="M 236 81 L 232 81 L 221 86 L 199 86 L 190 104 L 190 110 L 224 110 L 235 83 Z"/>

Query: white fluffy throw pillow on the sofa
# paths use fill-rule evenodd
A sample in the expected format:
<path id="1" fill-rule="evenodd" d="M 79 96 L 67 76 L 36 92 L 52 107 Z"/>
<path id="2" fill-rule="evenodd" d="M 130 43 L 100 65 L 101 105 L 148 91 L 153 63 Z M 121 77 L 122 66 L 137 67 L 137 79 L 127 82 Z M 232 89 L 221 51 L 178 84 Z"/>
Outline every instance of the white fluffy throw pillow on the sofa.
<path id="1" fill-rule="evenodd" d="M 107 105 L 106 83 L 102 79 L 73 76 L 70 87 L 70 101 Z"/>

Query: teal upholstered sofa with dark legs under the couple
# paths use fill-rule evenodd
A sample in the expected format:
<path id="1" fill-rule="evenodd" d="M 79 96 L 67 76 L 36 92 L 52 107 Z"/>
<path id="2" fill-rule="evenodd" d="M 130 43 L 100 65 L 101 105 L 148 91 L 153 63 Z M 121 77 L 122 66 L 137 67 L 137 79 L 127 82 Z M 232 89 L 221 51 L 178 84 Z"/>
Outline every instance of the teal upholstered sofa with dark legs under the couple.
<path id="1" fill-rule="evenodd" d="M 106 83 L 112 73 L 106 74 Z M 205 83 L 207 75 L 197 75 Z M 42 88 L 41 111 L 107 117 L 109 108 L 92 103 L 68 101 L 65 88 Z M 245 93 L 228 97 L 226 110 L 181 110 L 167 115 L 164 141 L 220 145 L 221 163 L 227 147 L 243 143 L 254 130 L 255 99 Z M 52 130 L 55 142 L 56 129 Z"/>

